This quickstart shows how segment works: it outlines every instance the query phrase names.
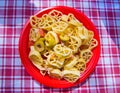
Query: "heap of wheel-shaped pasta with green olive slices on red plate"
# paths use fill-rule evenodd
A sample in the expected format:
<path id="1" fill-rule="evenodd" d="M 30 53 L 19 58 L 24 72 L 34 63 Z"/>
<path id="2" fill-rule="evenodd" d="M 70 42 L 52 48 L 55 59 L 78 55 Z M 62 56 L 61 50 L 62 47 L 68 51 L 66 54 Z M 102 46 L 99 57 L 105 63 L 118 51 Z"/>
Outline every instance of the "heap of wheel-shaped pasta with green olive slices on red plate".
<path id="1" fill-rule="evenodd" d="M 52 10 L 41 17 L 30 17 L 29 58 L 40 73 L 76 82 L 86 70 L 98 41 L 72 13 Z"/>

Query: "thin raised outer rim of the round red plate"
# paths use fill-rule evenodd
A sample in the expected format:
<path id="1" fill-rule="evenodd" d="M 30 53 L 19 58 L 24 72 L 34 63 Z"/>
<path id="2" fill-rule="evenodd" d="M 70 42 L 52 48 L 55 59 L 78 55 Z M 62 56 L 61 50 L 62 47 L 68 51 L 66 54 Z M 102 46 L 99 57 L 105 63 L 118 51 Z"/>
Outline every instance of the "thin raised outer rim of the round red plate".
<path id="1" fill-rule="evenodd" d="M 42 10 L 36 12 L 34 15 L 39 15 L 41 12 L 44 12 L 44 11 L 49 10 L 49 9 L 56 9 L 56 8 L 69 8 L 69 9 L 72 9 L 72 10 L 74 10 L 74 11 L 82 14 L 82 16 L 84 16 L 84 18 L 86 18 L 86 20 L 89 21 L 89 23 L 90 23 L 90 24 L 92 25 L 92 27 L 94 28 L 94 31 L 97 33 L 98 42 L 99 42 L 99 46 L 97 46 L 98 49 L 99 49 L 99 50 L 98 50 L 98 58 L 95 60 L 95 61 L 96 61 L 95 64 L 89 67 L 89 71 L 88 71 L 89 73 L 85 73 L 84 78 L 80 78 L 80 79 L 79 79 L 79 82 L 72 83 L 72 84 L 68 84 L 69 86 L 65 86 L 64 84 L 61 84 L 61 85 L 64 85 L 64 86 L 56 86 L 56 85 L 52 85 L 52 86 L 51 86 L 51 85 L 49 85 L 48 83 L 40 82 L 38 79 L 36 79 L 35 77 L 33 77 L 33 76 L 31 75 L 30 71 L 26 68 L 25 63 L 23 62 L 23 61 L 25 61 L 25 60 L 24 60 L 24 58 L 23 58 L 23 55 L 22 55 L 23 53 L 22 53 L 22 48 L 21 48 L 21 46 L 22 46 L 22 44 L 23 44 L 23 43 L 21 42 L 21 41 L 23 41 L 23 40 L 22 40 L 23 34 L 25 33 L 26 26 L 28 26 L 28 24 L 30 23 L 29 19 L 27 20 L 27 22 L 26 22 L 25 25 L 23 26 L 22 32 L 21 32 L 21 34 L 20 34 L 20 38 L 19 38 L 19 54 L 20 54 L 21 62 L 22 62 L 22 64 L 24 65 L 24 67 L 25 67 L 25 69 L 27 70 L 27 72 L 30 74 L 30 76 L 32 76 L 32 77 L 33 77 L 35 80 L 37 80 L 39 83 L 44 84 L 44 85 L 49 86 L 49 87 L 53 87 L 53 88 L 68 88 L 68 87 L 75 86 L 75 85 L 77 85 L 77 84 L 85 81 L 85 80 L 90 76 L 90 74 L 93 72 L 93 70 L 95 69 L 96 65 L 98 64 L 99 57 L 100 57 L 100 50 L 101 50 L 101 47 L 100 47 L 100 37 L 99 37 L 99 33 L 98 33 L 95 25 L 91 22 L 91 20 L 90 20 L 84 13 L 82 13 L 81 11 L 78 11 L 78 10 L 75 9 L 75 8 L 68 7 L 68 6 L 53 6 L 53 7 L 49 7 L 49 8 L 42 9 Z M 93 67 L 93 69 L 90 69 L 90 68 L 92 68 L 92 67 Z M 31 70 L 31 71 L 32 71 L 32 70 Z"/>

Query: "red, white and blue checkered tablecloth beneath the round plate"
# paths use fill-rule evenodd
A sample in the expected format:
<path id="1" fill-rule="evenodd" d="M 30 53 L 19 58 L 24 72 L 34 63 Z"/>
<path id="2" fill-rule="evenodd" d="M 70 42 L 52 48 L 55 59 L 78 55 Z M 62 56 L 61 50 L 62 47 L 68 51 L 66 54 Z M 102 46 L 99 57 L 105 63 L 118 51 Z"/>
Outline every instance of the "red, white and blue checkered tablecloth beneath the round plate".
<path id="1" fill-rule="evenodd" d="M 34 80 L 21 63 L 18 41 L 26 21 L 39 10 L 64 5 L 95 24 L 101 55 L 95 71 L 75 87 L 54 89 Z M 0 0 L 0 93 L 120 93 L 119 0 Z"/>

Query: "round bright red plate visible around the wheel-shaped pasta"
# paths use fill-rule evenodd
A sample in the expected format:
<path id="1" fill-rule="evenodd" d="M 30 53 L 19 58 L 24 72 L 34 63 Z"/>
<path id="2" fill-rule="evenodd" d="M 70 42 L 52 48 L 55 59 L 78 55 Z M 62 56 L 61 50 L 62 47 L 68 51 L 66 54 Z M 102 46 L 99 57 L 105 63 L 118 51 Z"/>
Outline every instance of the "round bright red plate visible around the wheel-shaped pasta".
<path id="1" fill-rule="evenodd" d="M 47 75 L 42 76 L 40 74 L 39 70 L 32 64 L 32 62 L 28 58 L 28 54 L 30 51 L 28 48 L 28 41 L 29 41 L 29 31 L 31 28 L 29 20 L 25 24 L 25 26 L 22 30 L 20 39 L 19 39 L 19 52 L 20 52 L 20 57 L 21 57 L 24 67 L 26 68 L 27 72 L 34 79 L 36 79 L 41 84 L 44 84 L 49 87 L 67 88 L 67 87 L 71 87 L 71 86 L 74 86 L 76 84 L 79 84 L 79 83 L 85 81 L 88 78 L 88 76 L 92 73 L 92 71 L 95 69 L 95 66 L 98 63 L 98 59 L 100 56 L 100 38 L 98 35 L 98 31 L 96 30 L 95 26 L 90 21 L 90 19 L 88 19 L 88 17 L 86 17 L 82 12 L 77 11 L 76 9 L 66 7 L 66 6 L 56 6 L 56 7 L 51 7 L 51 8 L 42 10 L 35 15 L 38 17 L 41 17 L 43 14 L 46 14 L 53 9 L 59 10 L 63 14 L 68 14 L 68 13 L 74 14 L 74 16 L 79 21 L 81 21 L 86 28 L 88 28 L 89 30 L 92 30 L 94 32 L 94 34 L 95 34 L 94 38 L 96 38 L 98 41 L 98 46 L 93 50 L 93 56 L 92 56 L 91 60 L 88 62 L 87 68 L 86 68 L 85 72 L 81 75 L 80 79 L 75 83 L 70 83 L 65 80 L 57 80 L 57 79 L 53 79 Z"/>

